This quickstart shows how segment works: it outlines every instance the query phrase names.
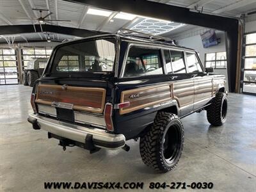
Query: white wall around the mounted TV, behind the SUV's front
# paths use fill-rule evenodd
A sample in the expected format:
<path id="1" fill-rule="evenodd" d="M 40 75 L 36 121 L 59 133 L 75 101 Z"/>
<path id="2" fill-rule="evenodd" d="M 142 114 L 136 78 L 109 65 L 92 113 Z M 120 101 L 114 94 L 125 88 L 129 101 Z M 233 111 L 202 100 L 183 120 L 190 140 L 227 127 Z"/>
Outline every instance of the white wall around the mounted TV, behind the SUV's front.
<path id="1" fill-rule="evenodd" d="M 196 51 L 198 51 L 200 60 L 202 61 L 203 65 L 204 65 L 205 53 L 226 51 L 225 33 L 219 31 L 219 32 L 216 32 L 216 36 L 217 36 L 217 38 L 220 38 L 221 43 L 216 46 L 212 46 L 212 47 L 208 47 L 208 48 L 204 48 L 200 35 L 189 36 L 188 38 L 183 38 L 183 39 L 177 40 L 177 43 L 184 47 L 189 47 L 189 48 L 192 48 L 192 49 L 195 49 Z M 214 72 L 225 75 L 226 79 L 228 77 L 227 69 L 214 69 Z M 228 90 L 228 81 L 226 83 L 226 89 Z"/>

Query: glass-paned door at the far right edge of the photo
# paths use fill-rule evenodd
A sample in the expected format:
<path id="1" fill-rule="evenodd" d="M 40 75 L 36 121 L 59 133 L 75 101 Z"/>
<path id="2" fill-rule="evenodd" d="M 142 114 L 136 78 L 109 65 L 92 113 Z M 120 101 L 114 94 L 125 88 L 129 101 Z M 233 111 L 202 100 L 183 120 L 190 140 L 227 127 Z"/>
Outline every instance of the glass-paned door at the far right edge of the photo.
<path id="1" fill-rule="evenodd" d="M 246 35 L 243 56 L 243 93 L 256 95 L 256 33 Z"/>

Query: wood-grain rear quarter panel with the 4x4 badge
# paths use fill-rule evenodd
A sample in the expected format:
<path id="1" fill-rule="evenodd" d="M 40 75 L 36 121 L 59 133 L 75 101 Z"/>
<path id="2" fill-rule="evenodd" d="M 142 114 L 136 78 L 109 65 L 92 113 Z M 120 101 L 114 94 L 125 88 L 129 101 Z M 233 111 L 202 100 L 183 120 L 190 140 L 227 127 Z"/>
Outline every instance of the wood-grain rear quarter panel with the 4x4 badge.
<path id="1" fill-rule="evenodd" d="M 138 97 L 131 98 L 131 95 L 138 95 Z M 127 90 L 121 93 L 120 102 L 130 102 L 130 106 L 121 108 L 120 115 L 147 108 L 148 106 L 153 106 L 168 100 L 172 100 L 171 84 L 161 84 L 158 86 L 147 86 L 145 88 Z"/>

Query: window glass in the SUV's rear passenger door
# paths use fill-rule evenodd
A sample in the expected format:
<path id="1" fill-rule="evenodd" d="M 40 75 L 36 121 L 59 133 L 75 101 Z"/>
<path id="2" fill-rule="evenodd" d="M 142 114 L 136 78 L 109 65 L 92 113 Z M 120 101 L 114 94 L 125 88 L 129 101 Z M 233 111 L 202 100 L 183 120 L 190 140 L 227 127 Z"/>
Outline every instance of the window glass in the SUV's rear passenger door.
<path id="1" fill-rule="evenodd" d="M 171 50 L 172 69 L 174 74 L 186 73 L 184 54 L 182 51 Z"/>

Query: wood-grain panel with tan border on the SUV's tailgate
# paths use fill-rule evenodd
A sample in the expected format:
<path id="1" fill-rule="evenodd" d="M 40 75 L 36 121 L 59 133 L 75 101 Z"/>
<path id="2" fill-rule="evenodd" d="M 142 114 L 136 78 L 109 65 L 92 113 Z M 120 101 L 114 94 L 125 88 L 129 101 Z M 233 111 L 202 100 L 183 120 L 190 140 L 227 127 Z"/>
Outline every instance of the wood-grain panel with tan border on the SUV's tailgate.
<path id="1" fill-rule="evenodd" d="M 68 86 L 63 90 L 61 85 L 40 84 L 36 102 L 51 105 L 52 102 L 74 104 L 74 109 L 102 113 L 104 110 L 106 90 L 104 88 L 83 88 Z"/>

